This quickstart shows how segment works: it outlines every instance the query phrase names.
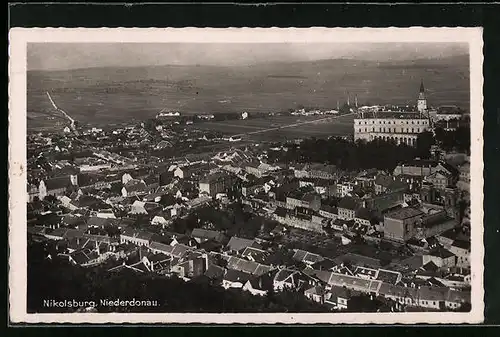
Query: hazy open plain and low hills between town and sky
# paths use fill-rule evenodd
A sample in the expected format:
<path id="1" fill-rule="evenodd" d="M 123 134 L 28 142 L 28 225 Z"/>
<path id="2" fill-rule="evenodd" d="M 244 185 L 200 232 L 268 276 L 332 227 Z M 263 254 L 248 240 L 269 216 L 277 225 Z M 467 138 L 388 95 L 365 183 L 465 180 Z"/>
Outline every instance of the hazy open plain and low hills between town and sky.
<path id="1" fill-rule="evenodd" d="M 299 105 L 333 108 L 346 93 L 360 103 L 414 104 L 420 80 L 431 105 L 468 108 L 467 55 L 377 62 L 356 59 L 253 66 L 152 66 L 29 71 L 28 114 L 50 114 L 46 91 L 82 121 L 183 113 L 282 111 Z M 32 124 L 35 121 L 30 121 Z M 36 123 L 35 123 L 36 124 Z"/>

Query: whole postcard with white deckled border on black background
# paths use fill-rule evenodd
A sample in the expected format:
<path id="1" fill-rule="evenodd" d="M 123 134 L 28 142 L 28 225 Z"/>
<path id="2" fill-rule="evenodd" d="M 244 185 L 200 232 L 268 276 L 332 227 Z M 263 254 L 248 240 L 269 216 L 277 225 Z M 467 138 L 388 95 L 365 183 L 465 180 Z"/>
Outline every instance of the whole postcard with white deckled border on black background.
<path id="1" fill-rule="evenodd" d="M 481 30 L 10 44 L 11 319 L 482 321 Z"/>

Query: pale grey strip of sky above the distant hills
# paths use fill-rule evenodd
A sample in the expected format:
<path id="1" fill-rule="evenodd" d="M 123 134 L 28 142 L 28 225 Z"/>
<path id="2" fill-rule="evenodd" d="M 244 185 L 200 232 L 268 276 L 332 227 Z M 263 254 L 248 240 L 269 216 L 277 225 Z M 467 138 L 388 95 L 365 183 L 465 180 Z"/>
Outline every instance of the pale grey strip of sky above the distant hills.
<path id="1" fill-rule="evenodd" d="M 439 58 L 468 53 L 463 43 L 29 43 L 28 70 L 154 65 L 244 66 L 356 58 Z"/>

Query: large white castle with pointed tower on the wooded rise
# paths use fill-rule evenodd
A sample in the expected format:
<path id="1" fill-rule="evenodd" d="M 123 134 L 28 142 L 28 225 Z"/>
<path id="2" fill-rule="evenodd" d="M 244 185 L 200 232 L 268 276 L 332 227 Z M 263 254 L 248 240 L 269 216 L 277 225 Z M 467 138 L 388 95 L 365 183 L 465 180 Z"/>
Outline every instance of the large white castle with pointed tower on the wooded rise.
<path id="1" fill-rule="evenodd" d="M 361 113 L 354 119 L 354 140 L 392 140 L 397 144 L 415 146 L 419 133 L 429 130 L 424 85 L 420 85 L 418 112 L 378 111 Z"/>

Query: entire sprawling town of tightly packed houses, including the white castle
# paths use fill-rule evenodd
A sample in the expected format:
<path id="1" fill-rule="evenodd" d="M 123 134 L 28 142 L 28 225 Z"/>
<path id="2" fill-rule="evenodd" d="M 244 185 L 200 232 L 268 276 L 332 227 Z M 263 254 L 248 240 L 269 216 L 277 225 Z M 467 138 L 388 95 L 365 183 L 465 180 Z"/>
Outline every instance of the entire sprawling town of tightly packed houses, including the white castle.
<path id="1" fill-rule="evenodd" d="M 424 83 L 415 91 L 410 107 L 356 96 L 280 112 L 296 124 L 351 116 L 349 136 L 327 139 L 197 126 L 274 113 L 164 110 L 32 132 L 28 250 L 67 270 L 293 292 L 325 312 L 468 311 L 469 118 L 428 105 Z"/>

